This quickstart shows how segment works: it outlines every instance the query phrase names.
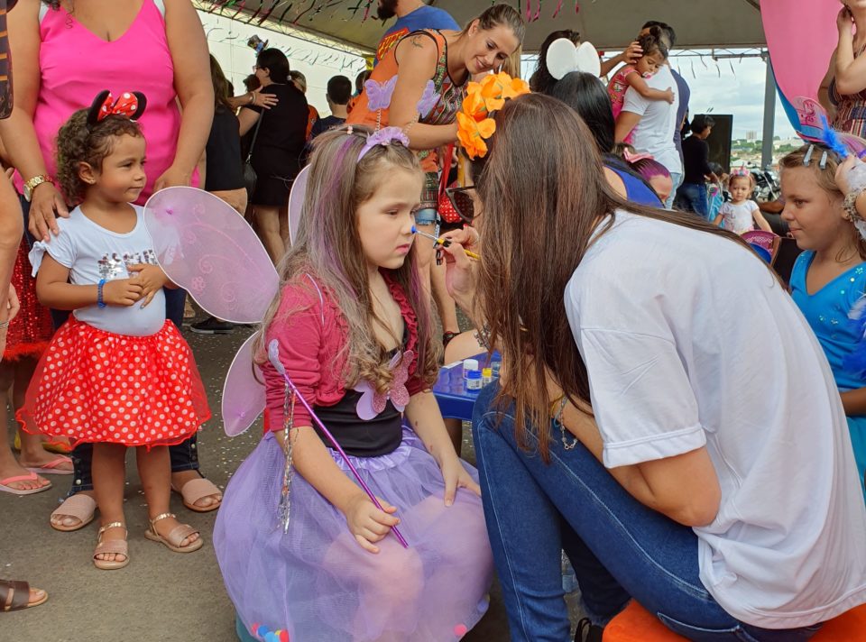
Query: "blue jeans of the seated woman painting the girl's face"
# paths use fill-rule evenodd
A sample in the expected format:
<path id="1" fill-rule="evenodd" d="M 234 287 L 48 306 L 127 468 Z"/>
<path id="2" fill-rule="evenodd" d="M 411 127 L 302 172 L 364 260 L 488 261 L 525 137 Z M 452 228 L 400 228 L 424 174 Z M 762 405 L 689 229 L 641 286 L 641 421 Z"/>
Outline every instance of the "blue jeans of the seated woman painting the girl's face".
<path id="1" fill-rule="evenodd" d="M 541 460 L 534 435 L 529 450 L 521 449 L 513 405 L 493 406 L 498 391 L 492 384 L 481 392 L 472 425 L 484 517 L 513 642 L 570 639 L 560 548 L 575 567 L 596 624 L 633 597 L 697 642 L 800 642 L 820 628 L 769 630 L 733 618 L 700 581 L 691 528 L 634 500 L 583 445 L 564 448 L 553 427 L 550 463 Z"/>

